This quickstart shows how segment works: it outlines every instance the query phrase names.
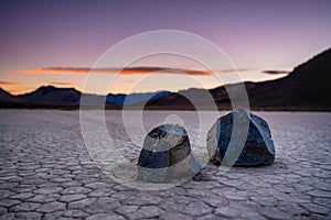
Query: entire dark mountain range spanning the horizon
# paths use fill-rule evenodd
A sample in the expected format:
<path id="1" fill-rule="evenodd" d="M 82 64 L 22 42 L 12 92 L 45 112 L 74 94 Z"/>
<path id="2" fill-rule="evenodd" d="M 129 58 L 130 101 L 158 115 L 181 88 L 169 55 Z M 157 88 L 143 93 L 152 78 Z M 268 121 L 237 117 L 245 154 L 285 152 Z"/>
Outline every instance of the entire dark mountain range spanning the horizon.
<path id="1" fill-rule="evenodd" d="M 331 48 L 312 57 L 293 68 L 286 77 L 261 81 L 244 82 L 250 109 L 254 110 L 313 110 L 331 111 Z M 220 110 L 231 109 L 227 90 L 236 91 L 239 84 L 221 86 L 210 89 Z M 107 97 L 86 95 L 90 107 L 97 99 L 105 100 L 107 109 L 120 109 L 124 106 L 135 109 L 139 103 L 147 102 L 145 109 L 157 110 L 194 110 L 193 103 L 185 97 L 195 97 L 199 105 L 209 109 L 204 89 L 191 88 L 179 92 L 158 91 L 148 94 L 113 95 Z M 43 86 L 39 89 L 13 96 L 0 88 L 0 108 L 79 108 L 82 92 L 74 88 L 56 88 Z"/>

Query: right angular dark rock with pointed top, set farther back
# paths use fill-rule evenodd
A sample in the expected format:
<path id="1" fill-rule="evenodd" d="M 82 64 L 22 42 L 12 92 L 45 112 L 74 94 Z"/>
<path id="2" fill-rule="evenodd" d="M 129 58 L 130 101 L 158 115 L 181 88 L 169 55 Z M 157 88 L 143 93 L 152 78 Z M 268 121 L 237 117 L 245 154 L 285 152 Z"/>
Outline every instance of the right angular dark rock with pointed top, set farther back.
<path id="1" fill-rule="evenodd" d="M 234 118 L 237 123 L 235 127 Z M 243 136 L 233 132 L 247 133 L 247 139 L 244 136 L 242 142 L 237 139 Z M 207 150 L 211 162 L 216 165 L 259 166 L 270 165 L 275 161 L 268 123 L 244 109 L 236 109 L 217 119 L 207 133 Z"/>

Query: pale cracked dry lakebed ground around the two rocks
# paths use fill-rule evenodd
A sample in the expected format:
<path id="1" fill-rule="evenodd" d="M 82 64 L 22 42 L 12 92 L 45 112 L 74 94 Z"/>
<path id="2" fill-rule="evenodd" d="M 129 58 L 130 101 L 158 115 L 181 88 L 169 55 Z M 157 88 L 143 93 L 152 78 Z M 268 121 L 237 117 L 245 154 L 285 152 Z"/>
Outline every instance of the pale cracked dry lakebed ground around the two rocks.
<path id="1" fill-rule="evenodd" d="M 118 112 L 107 114 L 113 123 Z M 271 127 L 273 166 L 207 166 L 178 187 L 145 191 L 90 161 L 77 111 L 1 110 L 0 219 L 330 219 L 331 114 L 258 114 Z"/>

